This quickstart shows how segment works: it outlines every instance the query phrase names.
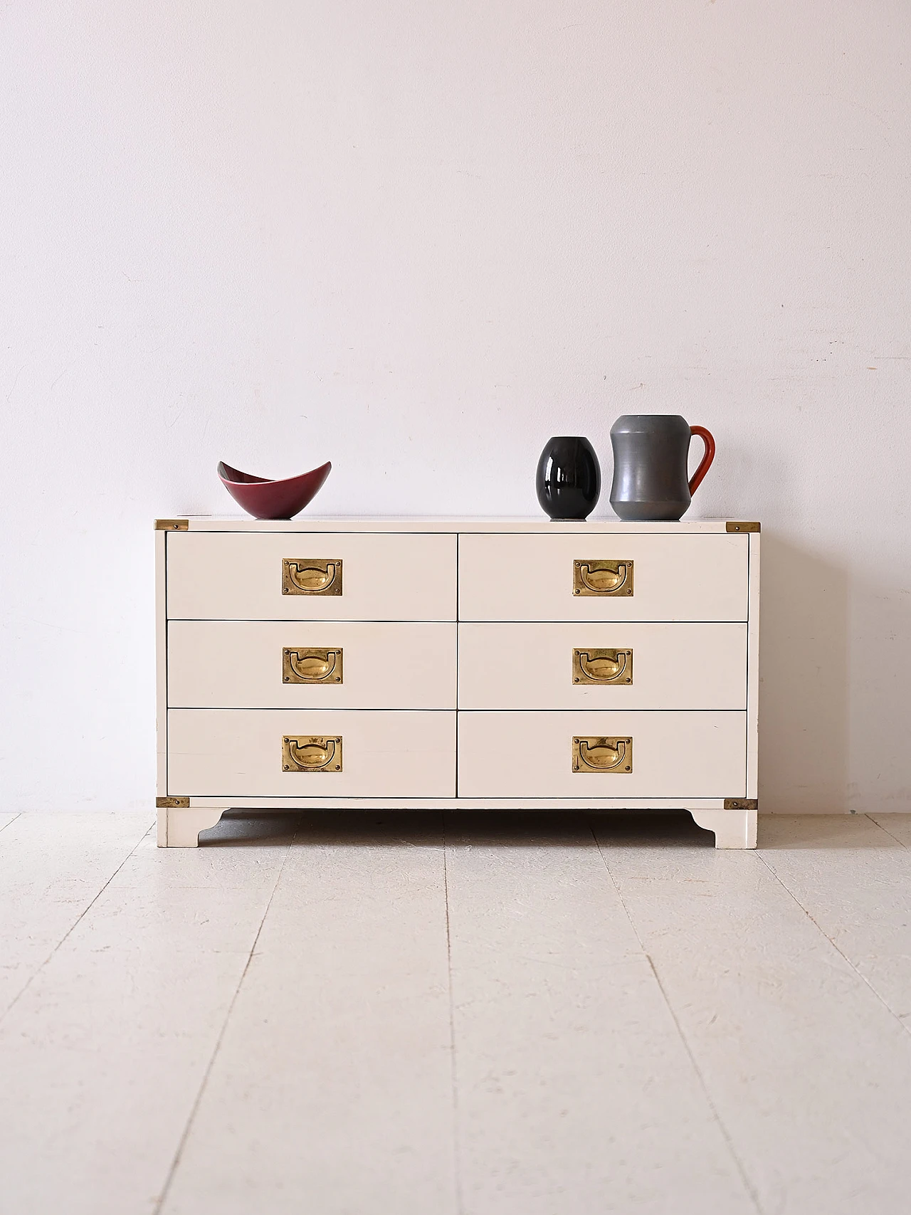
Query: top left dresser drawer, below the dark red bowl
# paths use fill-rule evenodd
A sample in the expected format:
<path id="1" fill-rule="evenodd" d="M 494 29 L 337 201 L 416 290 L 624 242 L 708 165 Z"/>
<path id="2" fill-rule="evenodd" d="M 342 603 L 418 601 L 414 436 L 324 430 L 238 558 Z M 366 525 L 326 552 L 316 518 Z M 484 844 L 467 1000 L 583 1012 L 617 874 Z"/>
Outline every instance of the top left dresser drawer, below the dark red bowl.
<path id="1" fill-rule="evenodd" d="M 455 620 L 455 537 L 172 532 L 171 620 Z"/>

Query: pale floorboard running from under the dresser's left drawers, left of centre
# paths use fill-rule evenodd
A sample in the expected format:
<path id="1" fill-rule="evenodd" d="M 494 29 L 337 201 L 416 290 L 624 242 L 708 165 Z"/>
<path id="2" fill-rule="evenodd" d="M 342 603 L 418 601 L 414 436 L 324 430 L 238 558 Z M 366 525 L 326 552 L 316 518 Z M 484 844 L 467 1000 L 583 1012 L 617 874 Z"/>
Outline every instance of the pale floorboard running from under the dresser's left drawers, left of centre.
<path id="1" fill-rule="evenodd" d="M 455 1215 L 441 816 L 301 821 L 163 1215 Z"/>

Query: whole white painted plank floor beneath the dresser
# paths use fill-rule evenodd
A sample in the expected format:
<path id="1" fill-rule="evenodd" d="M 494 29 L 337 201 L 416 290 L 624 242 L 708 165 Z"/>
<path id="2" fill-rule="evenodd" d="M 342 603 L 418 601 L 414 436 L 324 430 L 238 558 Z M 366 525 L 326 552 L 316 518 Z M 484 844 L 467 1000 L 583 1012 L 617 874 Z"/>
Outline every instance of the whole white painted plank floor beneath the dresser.
<path id="1" fill-rule="evenodd" d="M 906 1215 L 911 815 L 0 816 L 4 1215 Z"/>

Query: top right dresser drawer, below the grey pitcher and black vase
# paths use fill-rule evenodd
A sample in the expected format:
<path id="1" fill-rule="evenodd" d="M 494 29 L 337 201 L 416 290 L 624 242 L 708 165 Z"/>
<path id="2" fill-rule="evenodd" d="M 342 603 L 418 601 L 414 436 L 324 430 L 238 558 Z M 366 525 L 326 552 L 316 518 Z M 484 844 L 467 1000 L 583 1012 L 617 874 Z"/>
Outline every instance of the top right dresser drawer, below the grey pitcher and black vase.
<path id="1" fill-rule="evenodd" d="M 746 536 L 459 537 L 459 620 L 745 621 Z"/>

